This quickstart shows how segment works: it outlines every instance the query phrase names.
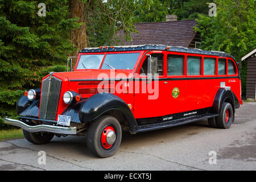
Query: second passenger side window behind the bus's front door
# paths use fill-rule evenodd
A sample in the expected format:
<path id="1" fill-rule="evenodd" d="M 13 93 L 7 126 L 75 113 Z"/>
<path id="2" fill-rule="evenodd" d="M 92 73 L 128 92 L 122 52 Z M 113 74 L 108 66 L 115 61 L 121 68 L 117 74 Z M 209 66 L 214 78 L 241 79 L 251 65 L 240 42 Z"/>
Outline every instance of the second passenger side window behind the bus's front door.
<path id="1" fill-rule="evenodd" d="M 188 56 L 187 75 L 201 75 L 201 57 Z"/>

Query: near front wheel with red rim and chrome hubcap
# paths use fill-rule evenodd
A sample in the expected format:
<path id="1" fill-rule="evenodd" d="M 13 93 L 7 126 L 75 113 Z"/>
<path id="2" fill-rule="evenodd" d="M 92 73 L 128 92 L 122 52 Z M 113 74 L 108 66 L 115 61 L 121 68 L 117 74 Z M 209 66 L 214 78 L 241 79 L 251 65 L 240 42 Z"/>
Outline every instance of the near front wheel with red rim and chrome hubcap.
<path id="1" fill-rule="evenodd" d="M 93 155 L 108 158 L 117 152 L 121 139 L 122 129 L 118 120 L 104 115 L 90 125 L 86 143 Z"/>

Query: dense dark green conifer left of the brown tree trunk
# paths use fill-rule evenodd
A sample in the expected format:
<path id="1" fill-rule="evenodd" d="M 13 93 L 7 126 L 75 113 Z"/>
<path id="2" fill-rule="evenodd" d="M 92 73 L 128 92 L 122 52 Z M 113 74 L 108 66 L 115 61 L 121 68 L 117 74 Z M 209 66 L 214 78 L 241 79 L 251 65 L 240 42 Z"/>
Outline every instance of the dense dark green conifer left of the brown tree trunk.
<path id="1" fill-rule="evenodd" d="M 50 71 L 65 71 L 70 31 L 80 26 L 69 18 L 68 1 L 0 1 L 0 127 L 5 115 L 15 116 L 15 104 L 24 90 L 40 88 Z"/>

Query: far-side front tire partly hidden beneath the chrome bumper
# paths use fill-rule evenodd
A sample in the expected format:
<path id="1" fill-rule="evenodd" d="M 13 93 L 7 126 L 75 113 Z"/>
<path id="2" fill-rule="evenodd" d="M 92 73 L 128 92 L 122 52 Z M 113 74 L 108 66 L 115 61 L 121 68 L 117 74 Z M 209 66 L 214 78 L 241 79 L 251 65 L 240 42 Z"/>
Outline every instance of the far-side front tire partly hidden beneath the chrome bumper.
<path id="1" fill-rule="evenodd" d="M 36 132 L 36 133 L 30 133 L 26 130 L 23 130 L 24 137 L 28 140 L 28 142 L 34 143 L 34 144 L 46 144 L 51 141 L 51 139 L 54 137 L 52 133 L 47 132 Z"/>

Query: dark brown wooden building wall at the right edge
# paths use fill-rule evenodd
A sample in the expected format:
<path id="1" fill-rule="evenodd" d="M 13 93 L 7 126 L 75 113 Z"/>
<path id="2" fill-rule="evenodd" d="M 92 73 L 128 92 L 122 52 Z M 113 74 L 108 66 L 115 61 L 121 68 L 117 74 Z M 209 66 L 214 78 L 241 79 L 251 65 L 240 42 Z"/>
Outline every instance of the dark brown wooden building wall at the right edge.
<path id="1" fill-rule="evenodd" d="M 250 56 L 245 61 L 247 61 L 246 98 L 255 100 L 256 56 Z"/>

